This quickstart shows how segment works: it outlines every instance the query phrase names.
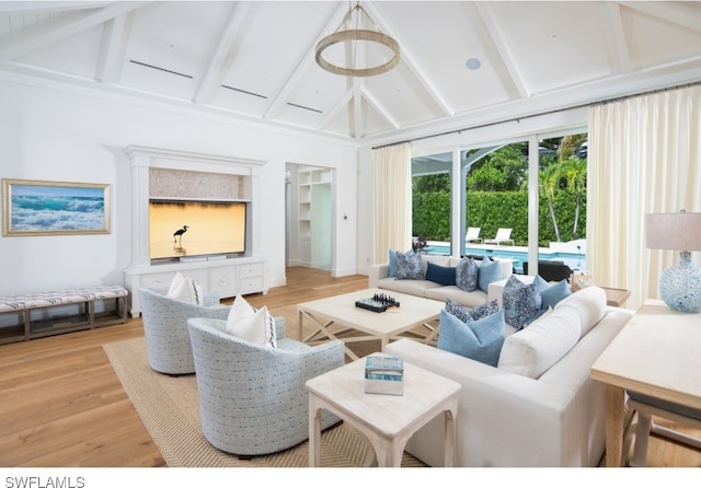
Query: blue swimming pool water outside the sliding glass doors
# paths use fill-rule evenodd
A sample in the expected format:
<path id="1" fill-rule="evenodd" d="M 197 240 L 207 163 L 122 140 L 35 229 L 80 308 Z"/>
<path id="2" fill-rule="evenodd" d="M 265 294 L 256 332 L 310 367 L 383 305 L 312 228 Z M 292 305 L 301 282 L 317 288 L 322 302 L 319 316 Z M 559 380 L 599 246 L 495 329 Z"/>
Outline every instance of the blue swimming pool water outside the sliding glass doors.
<path id="1" fill-rule="evenodd" d="M 450 255 L 450 246 L 446 243 L 429 243 L 424 247 L 427 254 Z M 524 274 L 524 262 L 528 260 L 528 248 L 520 246 L 498 246 L 489 244 L 470 244 L 466 246 L 464 254 L 473 256 L 489 256 L 493 258 L 504 258 L 514 260 L 514 269 L 517 274 Z M 538 253 L 540 260 L 559 260 L 563 262 L 570 268 L 585 270 L 586 265 L 585 253 L 564 253 L 562 251 L 552 251 L 541 247 Z"/>

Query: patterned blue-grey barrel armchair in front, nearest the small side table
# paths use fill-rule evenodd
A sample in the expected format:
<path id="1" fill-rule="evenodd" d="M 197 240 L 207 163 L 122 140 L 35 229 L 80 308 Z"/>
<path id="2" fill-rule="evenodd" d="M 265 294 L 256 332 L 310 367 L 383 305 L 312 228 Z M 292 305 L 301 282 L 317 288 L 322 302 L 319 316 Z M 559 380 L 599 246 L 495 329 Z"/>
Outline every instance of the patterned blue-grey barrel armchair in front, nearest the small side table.
<path id="1" fill-rule="evenodd" d="M 340 340 L 311 347 L 285 337 L 275 317 L 277 348 L 238 339 L 226 321 L 187 321 L 199 414 L 215 448 L 250 457 L 295 446 L 309 438 L 308 380 L 344 364 Z M 322 429 L 340 419 L 322 414 Z"/>

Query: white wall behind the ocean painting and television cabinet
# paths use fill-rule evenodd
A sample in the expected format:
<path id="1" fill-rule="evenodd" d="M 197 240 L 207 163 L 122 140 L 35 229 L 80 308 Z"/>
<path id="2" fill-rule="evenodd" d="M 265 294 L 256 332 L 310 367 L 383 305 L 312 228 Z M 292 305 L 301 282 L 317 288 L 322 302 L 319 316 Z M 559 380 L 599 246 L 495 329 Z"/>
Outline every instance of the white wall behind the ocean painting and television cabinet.
<path id="1" fill-rule="evenodd" d="M 285 163 L 335 167 L 343 184 L 333 272 L 356 272 L 357 156 L 350 143 L 58 85 L 0 80 L 0 177 L 110 184 L 113 197 L 110 234 L 1 236 L 0 294 L 124 283 L 131 262 L 129 144 L 267 161 L 258 254 L 268 259 L 271 287 L 285 284 Z"/>

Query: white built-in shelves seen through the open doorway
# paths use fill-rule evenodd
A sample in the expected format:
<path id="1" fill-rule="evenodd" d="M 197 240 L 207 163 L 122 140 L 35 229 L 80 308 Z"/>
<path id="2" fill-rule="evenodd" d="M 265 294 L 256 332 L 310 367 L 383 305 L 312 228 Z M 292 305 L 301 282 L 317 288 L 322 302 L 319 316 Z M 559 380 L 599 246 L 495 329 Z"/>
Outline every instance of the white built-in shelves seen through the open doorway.
<path id="1" fill-rule="evenodd" d="M 298 185 L 298 264 L 331 268 L 332 185 L 329 169 L 300 169 Z"/>

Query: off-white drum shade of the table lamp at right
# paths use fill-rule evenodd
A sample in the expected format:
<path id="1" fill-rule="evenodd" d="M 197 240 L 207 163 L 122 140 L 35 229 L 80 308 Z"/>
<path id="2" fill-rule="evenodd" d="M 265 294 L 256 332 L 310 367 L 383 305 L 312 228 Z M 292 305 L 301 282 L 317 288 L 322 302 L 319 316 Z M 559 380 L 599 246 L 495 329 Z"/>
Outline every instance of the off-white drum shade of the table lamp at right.
<path id="1" fill-rule="evenodd" d="M 645 242 L 653 249 L 701 251 L 701 213 L 645 216 Z"/>

